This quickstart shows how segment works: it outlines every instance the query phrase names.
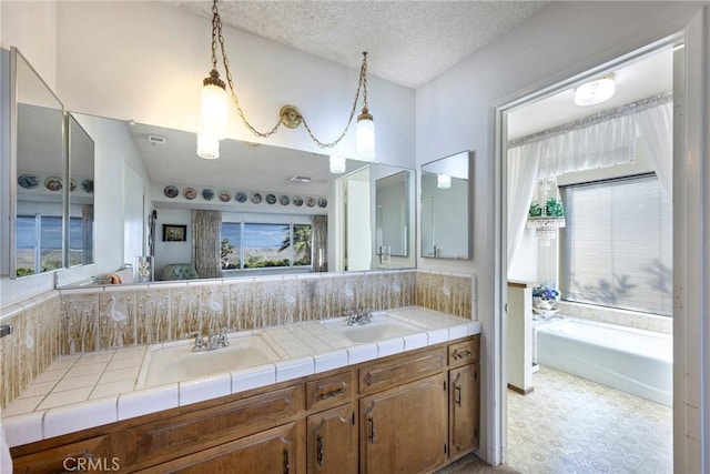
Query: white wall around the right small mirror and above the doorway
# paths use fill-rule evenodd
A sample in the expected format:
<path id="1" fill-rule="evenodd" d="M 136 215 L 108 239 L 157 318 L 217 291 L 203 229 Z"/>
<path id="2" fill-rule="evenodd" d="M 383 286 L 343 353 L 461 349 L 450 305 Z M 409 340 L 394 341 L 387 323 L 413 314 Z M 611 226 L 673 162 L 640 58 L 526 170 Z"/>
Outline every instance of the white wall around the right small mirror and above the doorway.
<path id="1" fill-rule="evenodd" d="M 500 461 L 503 369 L 498 360 L 501 301 L 496 260 L 503 229 L 501 163 L 495 162 L 494 107 L 552 85 L 604 62 L 681 31 L 704 2 L 552 2 L 539 13 L 417 90 L 417 163 L 476 152 L 474 172 L 474 256 L 470 261 L 419 259 L 423 269 L 478 275 L 477 314 L 484 326 L 485 361 L 481 425 L 483 455 Z M 498 173 L 498 180 L 496 175 Z M 419 233 L 418 233 L 419 234 Z M 505 249 L 505 244 L 503 245 Z M 505 269 L 505 262 L 501 262 Z M 505 272 L 503 274 L 505 278 Z M 498 441 L 497 441 L 498 440 Z"/>

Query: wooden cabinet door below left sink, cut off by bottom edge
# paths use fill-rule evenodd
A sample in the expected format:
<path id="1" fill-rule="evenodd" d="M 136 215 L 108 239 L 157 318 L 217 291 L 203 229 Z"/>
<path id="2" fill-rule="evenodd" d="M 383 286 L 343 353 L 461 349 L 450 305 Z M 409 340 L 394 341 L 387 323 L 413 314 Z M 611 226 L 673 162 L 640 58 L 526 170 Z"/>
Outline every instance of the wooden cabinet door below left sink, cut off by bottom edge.
<path id="1" fill-rule="evenodd" d="M 155 474 L 297 473 L 300 471 L 297 438 L 297 423 L 288 423 L 140 472 Z"/>

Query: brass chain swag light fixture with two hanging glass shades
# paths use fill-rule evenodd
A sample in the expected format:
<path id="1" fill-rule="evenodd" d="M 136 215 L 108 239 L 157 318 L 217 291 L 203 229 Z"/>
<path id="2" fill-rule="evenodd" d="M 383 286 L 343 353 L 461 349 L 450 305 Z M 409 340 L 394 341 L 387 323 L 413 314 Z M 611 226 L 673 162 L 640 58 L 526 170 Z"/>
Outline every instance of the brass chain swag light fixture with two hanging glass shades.
<path id="1" fill-rule="evenodd" d="M 222 53 L 222 64 L 224 65 L 224 72 L 226 77 L 226 84 L 224 81 L 220 79 L 220 73 L 217 71 L 217 43 L 220 46 L 220 51 Z M 234 91 L 234 81 L 232 79 L 232 72 L 229 67 L 230 61 L 226 58 L 226 52 L 224 50 L 224 37 L 222 34 L 222 18 L 220 17 L 220 11 L 217 9 L 217 0 L 213 0 L 212 3 L 212 70 L 210 71 L 210 75 L 203 80 L 203 92 L 202 92 L 202 134 L 211 137 L 211 140 L 217 141 L 217 151 L 214 153 L 213 147 L 201 148 L 197 147 L 197 154 L 202 158 L 217 158 L 219 157 L 219 140 L 222 140 L 226 137 L 226 123 L 227 123 L 227 112 L 226 112 L 226 87 L 229 85 L 230 94 L 232 95 L 232 101 L 236 107 L 236 112 L 242 119 L 244 127 L 252 132 L 254 135 L 260 138 L 268 138 L 278 131 L 278 128 L 283 124 L 286 128 L 295 129 L 303 123 L 308 137 L 318 148 L 333 148 L 343 140 L 343 138 L 347 134 L 347 131 L 353 123 L 353 119 L 355 118 L 355 111 L 357 109 L 357 102 L 359 101 L 361 93 L 363 94 L 363 109 L 359 115 L 357 115 L 357 125 L 356 125 L 356 143 L 357 143 L 357 155 L 359 159 L 372 161 L 375 158 L 375 125 L 373 122 L 373 115 L 369 113 L 369 109 L 367 107 L 367 52 L 363 52 L 363 63 L 359 69 L 359 81 L 357 83 L 357 91 L 355 92 L 355 99 L 353 101 L 353 107 L 351 109 L 349 118 L 347 119 L 347 123 L 343 129 L 341 135 L 332 142 L 324 142 L 318 140 L 305 117 L 301 114 L 301 111 L 295 105 L 284 105 L 281 108 L 278 112 L 278 122 L 268 131 L 263 132 L 256 130 L 254 125 L 252 125 L 248 120 L 246 120 L 246 114 L 242 110 L 240 105 L 240 100 Z M 206 139 L 204 139 L 206 142 Z M 200 138 L 197 139 L 200 141 Z M 214 142 L 211 144 L 214 144 Z M 201 151 L 204 150 L 204 154 Z M 205 155 L 211 154 L 211 155 Z"/>

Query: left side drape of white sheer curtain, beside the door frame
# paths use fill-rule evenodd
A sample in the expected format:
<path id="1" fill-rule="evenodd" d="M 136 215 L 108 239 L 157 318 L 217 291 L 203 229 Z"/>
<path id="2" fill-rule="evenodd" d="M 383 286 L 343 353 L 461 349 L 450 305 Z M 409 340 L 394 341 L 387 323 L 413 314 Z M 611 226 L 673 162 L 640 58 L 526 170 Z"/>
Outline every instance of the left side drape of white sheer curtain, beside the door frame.
<path id="1" fill-rule="evenodd" d="M 508 149 L 508 271 L 525 232 L 542 148 L 544 142 L 538 141 Z"/>

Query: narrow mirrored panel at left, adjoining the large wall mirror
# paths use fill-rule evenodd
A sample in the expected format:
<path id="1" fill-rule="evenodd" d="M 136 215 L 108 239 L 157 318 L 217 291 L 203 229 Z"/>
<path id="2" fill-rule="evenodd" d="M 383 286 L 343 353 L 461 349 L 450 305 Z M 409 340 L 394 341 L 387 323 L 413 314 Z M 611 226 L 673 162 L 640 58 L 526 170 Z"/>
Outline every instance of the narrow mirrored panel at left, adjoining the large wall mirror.
<path id="1" fill-rule="evenodd" d="M 93 140 L 71 114 L 67 114 L 69 133 L 69 225 L 65 228 L 65 266 L 93 262 Z"/>

